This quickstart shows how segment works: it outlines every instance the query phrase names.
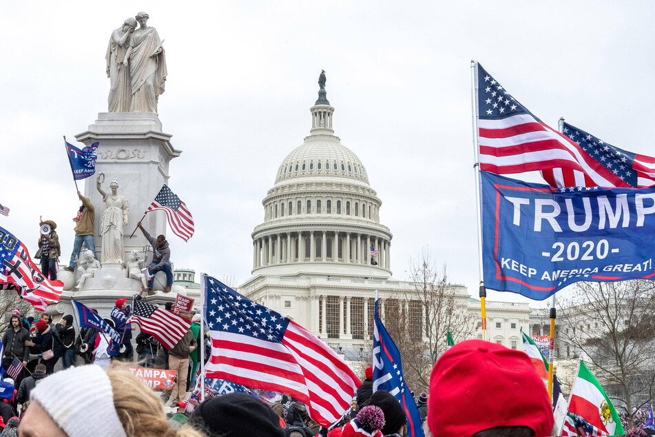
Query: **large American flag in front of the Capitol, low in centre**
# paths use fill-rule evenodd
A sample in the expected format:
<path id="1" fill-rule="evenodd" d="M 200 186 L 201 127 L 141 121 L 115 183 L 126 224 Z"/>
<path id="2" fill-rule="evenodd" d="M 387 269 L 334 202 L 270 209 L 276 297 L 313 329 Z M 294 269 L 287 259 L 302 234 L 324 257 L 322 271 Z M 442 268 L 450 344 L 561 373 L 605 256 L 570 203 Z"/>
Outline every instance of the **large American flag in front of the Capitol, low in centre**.
<path id="1" fill-rule="evenodd" d="M 211 276 L 202 286 L 211 336 L 207 378 L 287 393 L 325 427 L 350 407 L 362 383 L 328 345 Z"/>

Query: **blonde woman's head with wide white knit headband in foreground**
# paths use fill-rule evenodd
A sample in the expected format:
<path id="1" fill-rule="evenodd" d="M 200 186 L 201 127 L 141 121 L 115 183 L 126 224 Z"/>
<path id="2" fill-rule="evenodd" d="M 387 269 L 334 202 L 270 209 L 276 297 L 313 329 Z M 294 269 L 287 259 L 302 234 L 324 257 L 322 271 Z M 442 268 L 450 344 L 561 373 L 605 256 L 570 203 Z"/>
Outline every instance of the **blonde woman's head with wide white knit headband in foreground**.
<path id="1" fill-rule="evenodd" d="M 21 437 L 202 437 L 171 429 L 154 392 L 120 367 L 70 367 L 43 378 L 30 399 Z"/>

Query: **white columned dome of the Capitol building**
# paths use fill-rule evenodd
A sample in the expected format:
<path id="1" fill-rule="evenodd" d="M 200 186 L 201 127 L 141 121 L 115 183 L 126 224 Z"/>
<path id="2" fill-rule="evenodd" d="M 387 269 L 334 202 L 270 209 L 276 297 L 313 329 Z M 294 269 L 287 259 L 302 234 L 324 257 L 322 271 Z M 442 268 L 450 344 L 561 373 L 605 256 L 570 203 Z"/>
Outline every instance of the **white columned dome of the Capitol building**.
<path id="1" fill-rule="evenodd" d="M 391 276 L 391 232 L 362 161 L 333 130 L 334 108 L 322 87 L 311 129 L 287 155 L 262 201 L 253 230 L 253 274 Z"/>

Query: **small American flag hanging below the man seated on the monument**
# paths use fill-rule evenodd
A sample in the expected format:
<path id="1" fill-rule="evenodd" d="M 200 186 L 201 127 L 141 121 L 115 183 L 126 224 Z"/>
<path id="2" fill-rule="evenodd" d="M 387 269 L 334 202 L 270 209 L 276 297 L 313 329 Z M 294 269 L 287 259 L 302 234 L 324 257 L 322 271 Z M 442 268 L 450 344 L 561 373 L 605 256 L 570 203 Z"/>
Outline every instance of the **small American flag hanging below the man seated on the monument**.
<path id="1" fill-rule="evenodd" d="M 134 313 L 127 323 L 136 323 L 141 332 L 152 334 L 169 350 L 187 334 L 191 326 L 191 321 L 186 318 L 140 300 L 134 301 Z"/>

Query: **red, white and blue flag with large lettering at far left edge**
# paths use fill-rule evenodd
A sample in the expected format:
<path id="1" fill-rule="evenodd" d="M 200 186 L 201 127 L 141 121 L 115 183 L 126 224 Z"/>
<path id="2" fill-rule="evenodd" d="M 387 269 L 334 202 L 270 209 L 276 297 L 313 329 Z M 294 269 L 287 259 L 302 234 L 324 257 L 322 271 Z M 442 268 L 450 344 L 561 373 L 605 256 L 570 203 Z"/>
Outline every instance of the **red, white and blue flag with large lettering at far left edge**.
<path id="1" fill-rule="evenodd" d="M 61 281 L 46 279 L 32 261 L 28 248 L 8 230 L 0 227 L 0 284 L 11 284 L 39 309 L 44 303 L 57 303 L 63 291 Z M 39 306 L 37 306 L 39 305 Z"/>

